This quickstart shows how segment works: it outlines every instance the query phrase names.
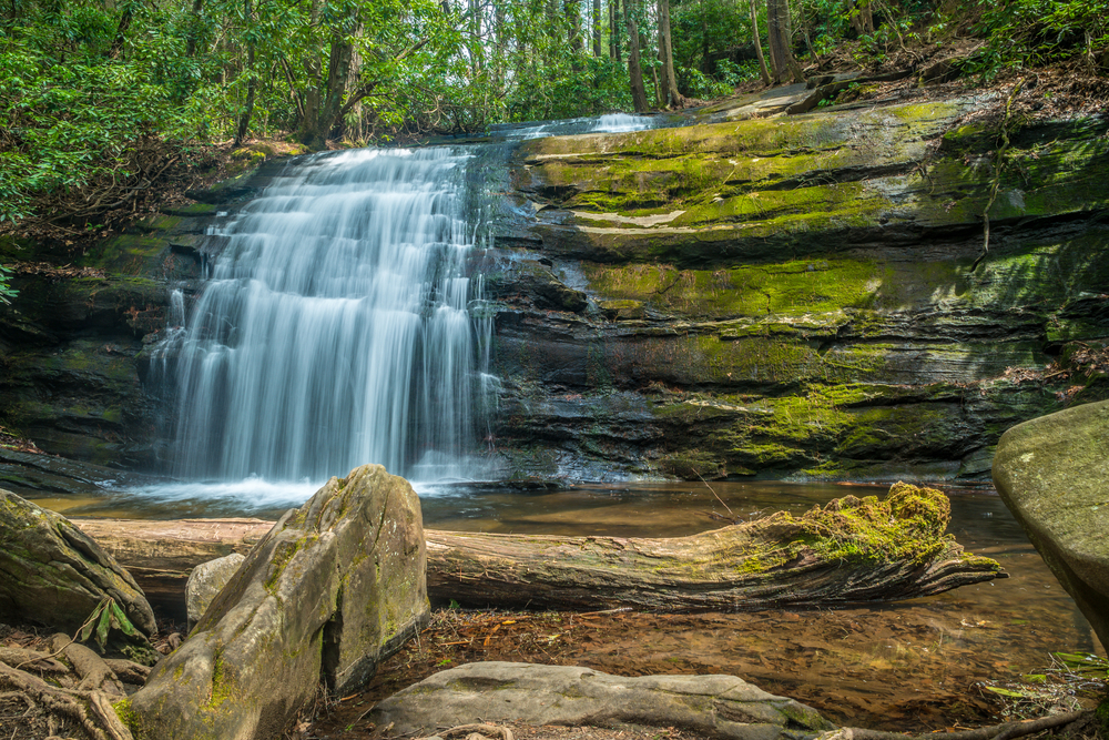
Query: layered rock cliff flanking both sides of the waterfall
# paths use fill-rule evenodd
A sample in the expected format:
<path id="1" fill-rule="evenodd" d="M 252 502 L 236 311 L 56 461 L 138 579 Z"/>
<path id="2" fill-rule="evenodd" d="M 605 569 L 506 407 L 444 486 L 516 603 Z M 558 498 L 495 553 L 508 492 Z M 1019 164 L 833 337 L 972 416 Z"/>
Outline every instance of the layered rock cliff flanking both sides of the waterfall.
<path id="1" fill-rule="evenodd" d="M 1106 122 L 1027 123 L 998 163 L 980 122 L 996 102 L 782 116 L 743 99 L 692 113 L 736 120 L 476 151 L 494 249 L 471 267 L 500 379 L 481 446 L 515 477 L 562 480 L 984 478 L 1005 429 L 1109 398 L 1089 359 L 1109 343 Z M 167 467 L 167 292 L 189 305 L 223 247 L 207 232 L 281 168 L 80 257 L 0 244 L 6 262 L 103 274 L 19 278 L 0 424 Z"/>

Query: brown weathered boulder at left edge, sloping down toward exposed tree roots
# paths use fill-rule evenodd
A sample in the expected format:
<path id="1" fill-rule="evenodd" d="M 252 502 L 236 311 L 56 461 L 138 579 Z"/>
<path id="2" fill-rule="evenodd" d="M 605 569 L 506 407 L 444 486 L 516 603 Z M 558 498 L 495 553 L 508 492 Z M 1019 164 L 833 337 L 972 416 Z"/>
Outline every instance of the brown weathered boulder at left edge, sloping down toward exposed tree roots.
<path id="1" fill-rule="evenodd" d="M 105 596 L 154 633 L 146 598 L 111 555 L 60 514 L 0 489 L 0 617 L 72 633 Z"/>

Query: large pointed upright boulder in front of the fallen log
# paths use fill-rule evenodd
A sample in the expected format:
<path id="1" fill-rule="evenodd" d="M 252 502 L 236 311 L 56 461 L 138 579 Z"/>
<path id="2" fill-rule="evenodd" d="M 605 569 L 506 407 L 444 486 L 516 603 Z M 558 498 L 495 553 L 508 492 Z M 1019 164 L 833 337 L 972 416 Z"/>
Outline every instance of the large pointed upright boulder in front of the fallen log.
<path id="1" fill-rule="evenodd" d="M 428 616 L 419 501 L 379 465 L 332 478 L 251 551 L 132 697 L 138 734 L 268 740 L 362 685 Z"/>

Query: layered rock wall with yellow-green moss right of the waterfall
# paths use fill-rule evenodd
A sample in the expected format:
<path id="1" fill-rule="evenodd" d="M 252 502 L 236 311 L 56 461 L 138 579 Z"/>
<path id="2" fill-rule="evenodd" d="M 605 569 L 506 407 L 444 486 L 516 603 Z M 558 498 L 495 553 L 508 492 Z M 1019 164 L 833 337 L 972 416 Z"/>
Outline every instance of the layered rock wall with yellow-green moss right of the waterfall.
<path id="1" fill-rule="evenodd" d="M 494 426 L 539 477 L 981 478 L 1011 425 L 1109 397 L 1101 119 L 981 100 L 526 142 L 540 310 L 509 259 Z M 507 242 L 521 244 L 522 239 Z M 1088 355 L 1087 355 L 1088 356 Z"/>

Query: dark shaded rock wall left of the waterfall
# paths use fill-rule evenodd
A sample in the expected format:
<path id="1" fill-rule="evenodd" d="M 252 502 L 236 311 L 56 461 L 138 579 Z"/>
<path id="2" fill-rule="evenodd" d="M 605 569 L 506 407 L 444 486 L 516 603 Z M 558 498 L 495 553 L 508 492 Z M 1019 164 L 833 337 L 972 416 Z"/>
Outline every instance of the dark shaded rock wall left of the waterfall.
<path id="1" fill-rule="evenodd" d="M 153 352 L 170 293 L 187 297 L 221 244 L 210 234 L 236 203 L 279 172 L 257 159 L 205 195 L 166 206 L 94 245 L 0 239 L 19 300 L 0 305 L 0 425 L 53 455 L 124 469 L 157 469 L 173 418 Z M 18 467 L 11 464 L 13 469 Z M 20 485 L 22 488 L 22 485 Z"/>

